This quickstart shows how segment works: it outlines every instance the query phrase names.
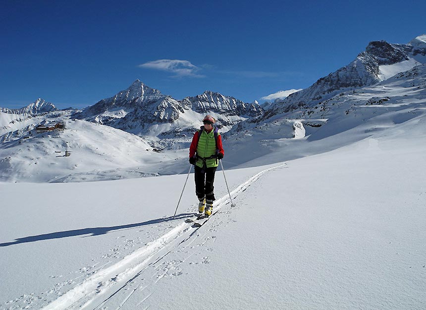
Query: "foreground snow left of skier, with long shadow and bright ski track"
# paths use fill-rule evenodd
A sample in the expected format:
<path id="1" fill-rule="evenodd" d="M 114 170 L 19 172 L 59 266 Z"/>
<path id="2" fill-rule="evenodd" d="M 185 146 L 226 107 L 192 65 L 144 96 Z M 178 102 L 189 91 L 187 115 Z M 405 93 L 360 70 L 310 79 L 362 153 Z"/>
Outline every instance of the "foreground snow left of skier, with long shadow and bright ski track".
<path id="1" fill-rule="evenodd" d="M 251 169 L 251 171 L 259 171 L 259 168 Z M 218 171 L 218 173 L 221 172 Z M 165 179 L 174 179 L 176 177 L 181 180 L 180 186 L 182 186 L 183 180 L 181 177 L 183 176 L 173 176 Z M 191 177 L 193 178 L 193 175 L 191 175 Z M 221 175 L 217 177 L 220 178 Z M 258 177 L 259 176 L 256 175 L 254 178 L 257 179 Z M 246 178 L 245 174 L 242 174 L 237 180 L 242 180 L 243 178 Z M 183 220 L 187 216 L 190 216 L 191 213 L 188 213 L 189 211 L 195 211 L 196 206 L 193 205 L 186 212 L 180 213 L 180 215 L 178 210 L 178 216 L 175 219 L 169 216 L 162 218 L 159 215 L 154 216 L 153 213 L 160 214 L 159 212 L 162 212 L 160 210 L 165 210 L 161 208 L 162 205 L 167 206 L 167 213 L 169 215 L 173 213 L 174 204 L 177 202 L 178 192 L 181 188 L 171 189 L 173 197 L 176 197 L 176 199 L 174 199 L 176 201 L 173 200 L 173 203 L 170 204 L 168 197 L 162 199 L 161 197 L 149 196 L 148 193 L 155 192 L 155 188 L 158 187 L 159 184 L 155 181 L 147 183 L 144 180 L 147 179 L 139 180 L 142 182 L 142 187 L 139 191 L 134 188 L 134 185 L 139 184 L 136 180 L 124 180 L 122 183 L 118 181 L 94 182 L 88 183 L 90 184 L 88 188 L 84 186 L 84 184 L 56 184 L 50 185 L 49 187 L 47 187 L 47 185 L 32 186 L 29 184 L 22 184 L 25 188 L 31 188 L 28 190 L 29 195 L 20 201 L 22 212 L 20 213 L 19 210 L 14 210 L 14 212 L 9 214 L 6 213 L 8 215 L 6 218 L 10 219 L 11 224 L 19 230 L 19 235 L 30 237 L 19 238 L 14 242 L 10 242 L 16 238 L 15 232 L 5 231 L 4 234 L 2 232 L 1 236 L 3 236 L 5 240 L 9 240 L 9 242 L 0 243 L 0 248 L 4 249 L 3 252 L 6 255 L 5 268 L 14 273 L 15 279 L 23 279 L 26 274 L 34 272 L 40 272 L 40 277 L 31 277 L 31 280 L 28 279 L 22 283 L 8 286 L 8 288 L 5 287 L 3 293 L 6 295 L 11 294 L 18 286 L 21 287 L 23 291 L 32 290 L 38 287 L 41 289 L 41 293 L 28 294 L 30 296 L 36 296 L 30 299 L 26 299 L 24 295 L 22 295 L 24 297 L 21 296 L 21 298 L 11 299 L 8 305 L 17 306 L 20 303 L 28 301 L 30 305 L 33 305 L 32 307 L 37 307 L 36 305 L 38 305 L 38 308 L 40 308 L 40 306 L 46 304 L 46 302 L 52 302 L 58 296 L 62 295 L 59 299 L 54 301 L 52 305 L 49 305 L 47 309 L 55 309 L 57 307 L 61 309 L 74 309 L 77 304 L 79 306 L 90 304 L 90 307 L 92 307 L 94 301 L 101 303 L 104 300 L 103 298 L 106 292 L 111 291 L 111 289 L 117 289 L 117 287 L 123 285 L 129 278 L 132 278 L 140 268 L 143 269 L 145 265 L 152 263 L 152 260 L 161 256 L 162 251 L 170 247 L 170 244 L 175 245 L 180 242 L 182 238 L 187 238 L 189 233 L 188 227 L 191 225 L 184 223 Z M 163 183 L 164 177 L 154 178 L 153 180 L 162 180 L 160 186 L 166 186 L 166 184 Z M 247 186 L 250 186 L 253 180 L 247 181 L 246 179 L 245 184 L 238 187 L 232 194 L 244 190 Z M 188 182 L 188 187 L 183 196 L 183 199 L 186 201 L 194 200 L 193 192 L 195 190 L 192 182 Z M 235 179 L 233 180 L 231 178 L 228 182 L 230 186 L 235 186 Z M 15 187 L 15 189 L 17 189 L 16 185 L 5 184 L 5 186 L 9 186 L 10 188 Z M 173 186 L 170 185 L 166 187 L 173 188 Z M 44 196 L 43 198 L 36 194 L 40 191 L 43 192 L 44 189 L 47 189 L 49 194 L 42 195 Z M 104 190 L 106 191 L 104 192 Z M 67 191 L 73 192 L 74 195 L 70 195 L 69 193 L 64 195 Z M 10 198 L 13 199 L 12 197 L 15 196 L 14 190 L 7 192 Z M 145 200 L 142 202 L 142 205 L 140 201 L 141 196 L 139 196 L 141 192 L 146 193 L 142 195 Z M 55 193 L 58 193 L 60 197 Z M 218 191 L 218 193 L 220 194 L 220 191 Z M 130 205 L 130 207 L 124 206 L 124 209 L 127 210 L 129 214 L 121 214 L 120 212 L 120 209 L 123 208 L 122 203 L 120 203 L 120 197 L 123 196 L 126 197 L 126 204 Z M 44 202 L 37 202 L 38 199 Z M 215 209 L 218 210 L 222 204 L 226 204 L 226 199 L 228 199 L 227 195 L 217 200 Z M 184 202 L 184 200 L 182 200 L 182 202 Z M 62 205 L 55 208 L 53 204 L 57 201 L 61 201 Z M 31 204 L 38 204 L 40 207 L 27 209 L 28 205 Z M 150 205 L 152 205 L 152 207 L 149 207 Z M 148 209 L 146 209 L 146 206 L 148 206 Z M 81 209 L 81 211 L 76 212 L 76 207 L 77 209 Z M 132 214 L 141 214 L 141 207 L 142 210 L 144 210 L 142 212 L 142 217 L 147 218 L 147 221 L 136 224 L 112 225 L 116 223 L 117 220 L 118 222 L 122 221 L 123 218 L 124 221 L 125 218 L 128 218 L 125 223 L 133 223 Z M 180 208 L 183 208 L 182 204 Z M 120 213 L 111 218 L 111 215 L 116 211 Z M 21 217 L 19 219 L 16 218 L 16 214 Z M 32 221 L 34 218 L 38 218 L 38 221 Z M 153 218 L 159 219 L 152 220 Z M 106 225 L 97 225 L 96 222 L 105 223 Z M 169 222 L 182 223 L 182 225 L 177 225 L 177 227 L 175 227 L 168 224 Z M 64 230 L 66 227 L 79 228 Z M 85 229 L 81 227 L 93 228 Z M 52 233 L 55 229 L 57 229 L 57 232 Z M 120 232 L 127 230 L 133 231 L 138 237 L 126 238 L 128 236 L 120 236 Z M 185 234 L 183 234 L 183 232 L 185 232 Z M 86 237 L 91 238 L 87 239 Z M 122 238 L 125 240 L 124 245 L 112 247 L 110 253 L 103 252 L 106 248 L 111 247 L 111 244 L 116 242 L 114 239 L 122 240 Z M 89 243 L 87 243 L 87 241 L 89 241 Z M 56 248 L 57 250 L 51 248 L 52 242 L 58 247 Z M 144 243 L 146 245 L 141 247 Z M 135 250 L 134 247 L 137 245 L 140 245 L 139 247 L 141 248 Z M 31 255 L 21 256 L 20 248 L 22 247 L 31 252 Z M 67 248 L 75 248 L 76 250 L 69 251 Z M 122 252 L 128 251 L 134 252 L 121 257 Z M 47 253 L 49 253 L 49 256 L 46 256 Z M 12 258 L 15 255 L 16 257 Z M 90 258 L 93 256 L 95 256 L 95 258 Z M 84 260 L 87 261 L 86 266 L 81 267 L 80 263 Z M 36 263 L 37 270 L 34 270 L 35 266 L 32 265 L 32 263 Z M 28 269 L 26 267 L 28 267 Z M 63 268 L 69 270 L 69 272 L 67 272 L 68 275 L 66 273 L 64 274 Z M 51 271 L 48 272 L 48 274 L 56 273 L 57 275 L 43 275 L 43 272 L 46 270 Z M 20 273 L 22 273 L 21 276 L 19 276 Z M 70 275 L 75 273 L 80 274 L 80 276 L 69 279 Z M 60 283 L 55 282 L 58 278 L 62 279 L 67 277 L 68 279 L 66 281 Z M 41 278 L 43 278 L 43 280 L 41 280 Z M 13 278 L 10 280 L 13 281 Z M 81 280 L 83 280 L 83 282 L 78 284 Z M 13 283 L 16 282 L 13 281 Z M 54 289 L 49 290 L 49 286 L 53 286 Z M 44 292 L 43 288 L 45 288 Z M 41 303 L 34 304 L 34 302 Z M 13 308 L 14 307 L 10 309 Z"/>

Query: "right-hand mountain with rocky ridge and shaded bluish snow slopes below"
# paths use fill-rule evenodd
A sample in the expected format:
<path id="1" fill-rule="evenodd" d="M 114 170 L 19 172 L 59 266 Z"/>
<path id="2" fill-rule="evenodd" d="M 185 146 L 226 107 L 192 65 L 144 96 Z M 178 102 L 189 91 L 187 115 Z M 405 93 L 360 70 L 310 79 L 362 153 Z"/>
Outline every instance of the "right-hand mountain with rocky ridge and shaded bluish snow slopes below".
<path id="1" fill-rule="evenodd" d="M 228 158 L 236 162 L 245 154 L 248 161 L 255 160 L 280 150 L 275 149 L 277 143 L 297 145 L 282 154 L 283 160 L 317 152 L 317 142 L 305 141 L 320 140 L 331 150 L 340 146 L 333 142 L 339 141 L 332 139 L 335 134 L 359 126 L 375 127 L 379 115 L 389 111 L 419 111 L 426 101 L 424 63 L 426 35 L 405 45 L 371 42 L 354 62 L 284 100 L 276 100 L 264 115 L 225 133 L 224 143 L 231 145 Z M 373 129 L 360 139 L 369 130 Z M 259 147 L 248 149 L 249 140 L 257 141 Z"/>

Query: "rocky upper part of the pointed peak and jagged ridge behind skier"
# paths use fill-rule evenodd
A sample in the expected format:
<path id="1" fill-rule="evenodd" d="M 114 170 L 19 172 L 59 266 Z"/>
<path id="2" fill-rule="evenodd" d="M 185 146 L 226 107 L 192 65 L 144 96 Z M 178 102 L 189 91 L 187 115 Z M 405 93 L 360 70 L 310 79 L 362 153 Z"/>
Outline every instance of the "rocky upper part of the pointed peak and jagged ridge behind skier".
<path id="1" fill-rule="evenodd" d="M 238 116 L 241 120 L 262 114 L 262 109 L 257 102 L 247 104 L 233 97 L 223 96 L 211 91 L 178 101 L 168 95 L 161 94 L 159 90 L 145 85 L 140 80 L 136 80 L 129 88 L 83 109 L 76 117 L 99 124 L 125 127 L 126 123 L 134 123 L 135 121 L 149 125 L 152 123 L 172 123 L 188 110 L 202 115 L 206 113 L 215 114 L 217 120 L 223 121 L 222 126 L 229 125 L 229 120 L 226 117 Z M 130 117 L 128 114 L 135 114 L 136 116 Z M 221 117 L 222 114 L 223 117 Z M 117 122 L 117 119 L 122 120 Z"/>

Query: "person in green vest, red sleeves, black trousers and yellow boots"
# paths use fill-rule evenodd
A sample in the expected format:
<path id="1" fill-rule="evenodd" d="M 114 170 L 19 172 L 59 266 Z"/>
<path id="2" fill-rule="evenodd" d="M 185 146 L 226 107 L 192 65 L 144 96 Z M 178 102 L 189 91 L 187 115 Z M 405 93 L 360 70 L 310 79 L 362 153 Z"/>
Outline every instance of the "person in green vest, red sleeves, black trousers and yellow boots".
<path id="1" fill-rule="evenodd" d="M 225 154 L 220 133 L 213 126 L 215 122 L 212 116 L 206 115 L 204 126 L 194 133 L 189 147 L 189 163 L 195 166 L 195 193 L 200 201 L 198 212 L 204 212 L 205 217 L 209 217 L 213 212 L 214 174 L 218 161 Z"/>

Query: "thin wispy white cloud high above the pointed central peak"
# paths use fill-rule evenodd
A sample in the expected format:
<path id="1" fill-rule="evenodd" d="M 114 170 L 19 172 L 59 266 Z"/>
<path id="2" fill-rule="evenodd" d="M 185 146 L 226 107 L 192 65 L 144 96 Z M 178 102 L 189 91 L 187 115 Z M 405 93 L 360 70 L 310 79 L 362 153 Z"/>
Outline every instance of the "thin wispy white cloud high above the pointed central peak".
<path id="1" fill-rule="evenodd" d="M 204 77 L 203 75 L 196 74 L 200 68 L 189 61 L 160 59 L 140 64 L 139 67 L 172 72 L 175 74 L 173 77 Z"/>

